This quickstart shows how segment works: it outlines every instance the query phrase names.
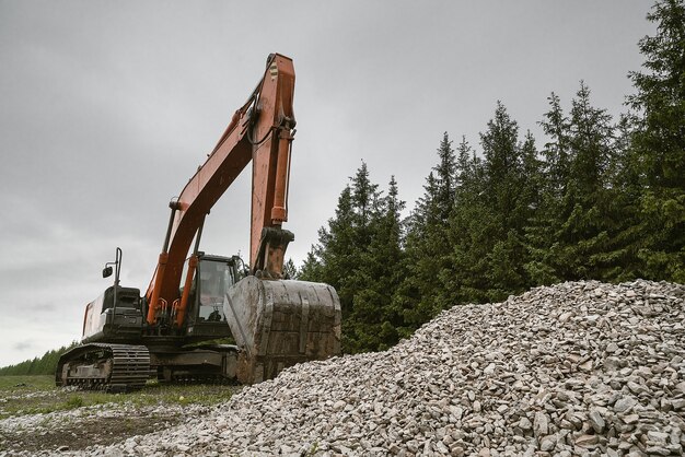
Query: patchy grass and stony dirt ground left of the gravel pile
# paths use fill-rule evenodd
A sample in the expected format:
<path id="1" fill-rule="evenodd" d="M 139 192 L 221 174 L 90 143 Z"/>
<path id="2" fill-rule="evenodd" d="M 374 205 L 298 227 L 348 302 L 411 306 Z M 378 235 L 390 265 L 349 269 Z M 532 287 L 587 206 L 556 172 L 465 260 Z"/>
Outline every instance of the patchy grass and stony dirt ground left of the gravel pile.
<path id="1" fill-rule="evenodd" d="M 135 392 L 105 394 L 58 388 L 53 376 L 0 376 L 0 455 L 118 443 L 183 422 L 191 405 L 200 406 L 194 414 L 207 413 L 204 407 L 227 401 L 239 389 L 149 382 Z"/>

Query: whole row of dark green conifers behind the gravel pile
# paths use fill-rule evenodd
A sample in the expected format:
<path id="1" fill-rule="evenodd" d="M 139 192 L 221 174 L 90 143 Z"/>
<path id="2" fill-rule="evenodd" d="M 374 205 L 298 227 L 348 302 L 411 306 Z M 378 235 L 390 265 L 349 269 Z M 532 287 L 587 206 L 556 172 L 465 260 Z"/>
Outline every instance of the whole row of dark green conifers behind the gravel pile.
<path id="1" fill-rule="evenodd" d="M 581 81 L 553 93 L 538 144 L 498 102 L 479 151 L 445 132 L 406 219 L 398 185 L 361 167 L 298 272 L 336 288 L 345 352 L 383 350 L 442 309 L 532 286 L 636 278 L 685 283 L 685 5 L 658 1 L 643 71 L 613 118 Z"/>

